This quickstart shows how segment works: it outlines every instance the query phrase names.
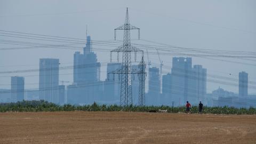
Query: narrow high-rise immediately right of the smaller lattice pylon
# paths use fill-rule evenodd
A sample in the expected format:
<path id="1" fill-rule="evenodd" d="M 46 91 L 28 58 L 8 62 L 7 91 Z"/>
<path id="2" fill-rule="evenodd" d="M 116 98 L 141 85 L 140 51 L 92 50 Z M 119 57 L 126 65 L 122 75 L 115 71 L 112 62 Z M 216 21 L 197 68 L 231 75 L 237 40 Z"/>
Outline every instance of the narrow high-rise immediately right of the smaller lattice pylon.
<path id="1" fill-rule="evenodd" d="M 160 75 L 159 68 L 149 68 L 148 93 L 146 105 L 159 105 Z"/>

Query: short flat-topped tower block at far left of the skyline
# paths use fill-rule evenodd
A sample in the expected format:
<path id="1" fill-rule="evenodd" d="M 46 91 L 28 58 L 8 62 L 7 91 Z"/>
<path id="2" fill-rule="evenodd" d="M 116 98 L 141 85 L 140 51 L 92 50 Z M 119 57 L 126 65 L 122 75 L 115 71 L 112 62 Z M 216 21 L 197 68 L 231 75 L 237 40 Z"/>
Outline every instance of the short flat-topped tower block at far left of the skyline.
<path id="1" fill-rule="evenodd" d="M 11 77 L 11 99 L 12 102 L 24 100 L 24 77 Z"/>

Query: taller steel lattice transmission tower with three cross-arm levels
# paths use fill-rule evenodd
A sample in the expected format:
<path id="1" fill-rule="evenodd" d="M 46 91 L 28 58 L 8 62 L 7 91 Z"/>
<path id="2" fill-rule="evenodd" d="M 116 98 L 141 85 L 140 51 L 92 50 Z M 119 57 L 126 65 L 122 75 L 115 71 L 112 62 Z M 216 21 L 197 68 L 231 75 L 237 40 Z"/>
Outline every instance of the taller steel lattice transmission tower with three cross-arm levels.
<path id="1" fill-rule="evenodd" d="M 118 74 L 121 77 L 121 90 L 120 90 L 120 105 L 132 105 L 132 74 L 139 74 L 138 71 L 132 70 L 131 52 L 134 52 L 134 59 L 136 60 L 136 53 L 143 51 L 137 47 L 131 46 L 130 30 L 138 29 L 138 38 L 140 39 L 140 28 L 134 27 L 130 24 L 128 8 L 126 9 L 126 16 L 124 25 L 115 29 L 114 38 L 116 39 L 116 30 L 124 30 L 123 45 L 117 47 L 110 52 L 110 61 L 112 59 L 112 52 L 117 52 L 117 60 L 119 61 L 119 52 L 123 53 L 122 67 L 119 70 L 113 71 L 111 74 Z"/>

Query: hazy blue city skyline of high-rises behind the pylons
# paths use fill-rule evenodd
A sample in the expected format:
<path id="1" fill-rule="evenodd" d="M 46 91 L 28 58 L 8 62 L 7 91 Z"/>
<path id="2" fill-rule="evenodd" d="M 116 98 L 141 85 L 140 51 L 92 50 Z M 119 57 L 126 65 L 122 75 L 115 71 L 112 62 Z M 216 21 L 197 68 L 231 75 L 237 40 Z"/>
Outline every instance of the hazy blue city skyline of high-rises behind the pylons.
<path id="1" fill-rule="evenodd" d="M 59 59 L 39 59 L 39 100 L 46 100 L 54 103 L 80 103 L 90 104 L 93 101 L 100 103 L 118 104 L 118 95 L 120 85 L 115 84 L 120 81 L 118 75 L 111 75 L 111 71 L 118 70 L 121 67 L 121 63 L 109 62 L 107 63 L 108 71 L 106 74 L 110 74 L 105 81 L 100 81 L 99 69 L 100 62 L 97 61 L 97 54 L 92 49 L 91 37 L 87 36 L 87 43 L 84 47 L 84 53 L 74 53 L 74 66 L 73 66 L 73 84 L 65 85 L 66 81 L 59 81 Z M 198 101 L 204 101 L 208 105 L 213 106 L 225 106 L 230 103 L 231 106 L 246 106 L 247 90 L 248 90 L 248 74 L 242 71 L 239 73 L 239 97 L 237 98 L 235 93 L 228 92 L 223 89 L 212 91 L 212 93 L 206 93 L 206 77 L 207 70 L 202 65 L 192 64 L 192 58 L 189 57 L 173 57 L 173 65 L 171 73 L 163 76 L 163 83 L 160 80 L 160 70 L 157 67 L 148 67 L 148 85 L 149 91 L 146 93 L 146 105 L 173 105 L 180 106 L 184 101 L 189 100 L 191 103 L 197 103 Z M 133 62 L 134 63 L 134 62 Z M 145 63 L 146 65 L 146 63 Z M 138 70 L 139 65 L 132 65 L 132 71 Z M 133 93 L 133 105 L 138 105 L 139 100 L 139 81 L 138 76 L 132 76 L 132 93 Z M 28 91 L 24 89 L 23 77 L 11 77 L 12 78 L 12 101 L 24 99 L 24 93 Z M 22 82 L 14 82 L 14 78 L 21 78 Z M 118 80 L 119 79 L 119 80 Z M 62 82 L 62 85 L 60 83 Z M 110 82 L 110 83 L 109 83 Z M 113 82 L 113 83 L 111 83 Z M 92 86 L 90 86 L 93 84 Z M 163 84 L 163 92 L 161 93 L 160 87 Z M 88 85 L 88 86 L 87 86 Z M 112 85 L 112 86 L 111 86 Z M 116 85 L 116 86 L 115 86 Z M 110 86 L 110 87 L 109 87 Z M 22 90 L 17 87 L 23 87 Z M 115 88 L 116 87 L 116 88 Z M 19 89 L 19 90 L 18 90 Z M 15 93 L 16 91 L 16 93 Z M 67 98 L 65 98 L 65 91 L 67 92 Z M 145 91 L 146 92 L 146 91 Z M 23 93 L 18 95 L 17 93 Z M 217 95 L 217 99 L 212 99 L 209 103 L 209 94 Z M 227 95 L 228 94 L 228 95 Z M 16 95 L 16 96 L 15 96 Z M 55 95 L 56 97 L 53 97 Z M 15 98 L 14 98 L 15 97 Z M 19 98 L 18 98 L 19 97 Z M 22 97 L 22 98 L 21 98 Z M 248 97 L 249 98 L 249 97 Z M 26 98 L 28 99 L 28 98 Z M 31 98 L 32 100 L 35 98 Z M 67 101 L 65 100 L 67 99 Z M 244 103 L 237 103 L 241 99 Z M 249 98 L 251 99 L 251 98 Z M 241 101 L 240 100 L 240 101 Z M 237 104 L 236 104 L 237 103 Z"/>

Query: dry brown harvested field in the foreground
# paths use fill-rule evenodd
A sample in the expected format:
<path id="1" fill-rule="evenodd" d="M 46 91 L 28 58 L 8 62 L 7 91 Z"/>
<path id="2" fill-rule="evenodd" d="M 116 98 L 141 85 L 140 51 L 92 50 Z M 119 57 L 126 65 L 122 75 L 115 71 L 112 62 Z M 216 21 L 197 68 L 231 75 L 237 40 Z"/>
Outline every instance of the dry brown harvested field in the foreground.
<path id="1" fill-rule="evenodd" d="M 0 113 L 0 143 L 256 143 L 256 115 Z"/>

